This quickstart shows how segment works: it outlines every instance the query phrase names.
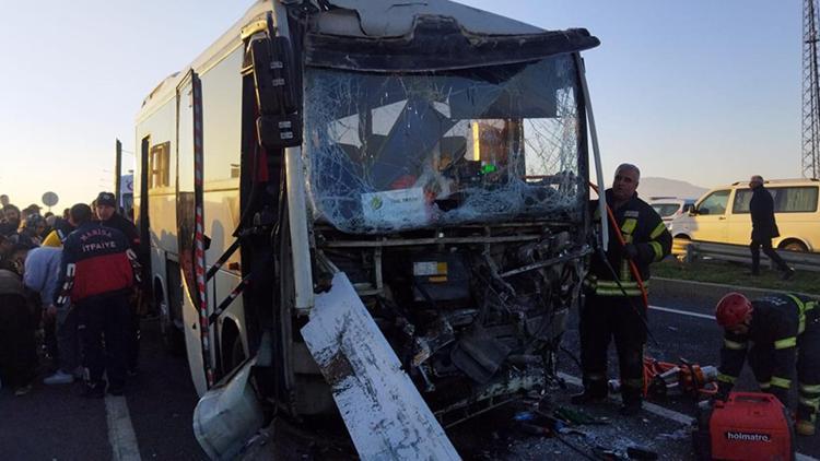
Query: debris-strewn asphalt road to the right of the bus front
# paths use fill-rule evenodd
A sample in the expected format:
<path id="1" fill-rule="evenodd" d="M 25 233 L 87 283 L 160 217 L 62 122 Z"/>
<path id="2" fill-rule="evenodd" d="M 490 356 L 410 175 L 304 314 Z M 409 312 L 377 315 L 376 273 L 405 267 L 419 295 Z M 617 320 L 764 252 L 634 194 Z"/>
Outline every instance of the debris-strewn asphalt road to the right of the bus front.
<path id="1" fill-rule="evenodd" d="M 649 298 L 649 328 L 654 340 L 649 340 L 646 354 L 665 362 L 678 362 L 686 358 L 700 365 L 718 365 L 723 333 L 712 318 L 715 303 L 725 294 L 723 289 L 686 286 L 681 289 L 664 289 L 661 284 L 654 284 Z M 660 288 L 660 289 L 658 289 Z M 564 336 L 564 347 L 577 355 L 578 334 L 577 317 L 570 320 L 569 330 Z M 567 381 L 574 381 L 566 390 L 554 390 L 549 400 L 552 406 L 577 409 L 569 403 L 569 394 L 578 392 L 581 370 L 575 362 L 563 354 L 559 366 Z M 610 378 L 618 376 L 614 345 L 610 347 L 609 357 Z M 748 366 L 745 367 L 735 390 L 757 391 L 757 382 Z M 792 400 L 795 402 L 796 392 Z M 494 452 L 484 451 L 485 459 L 584 459 L 591 453 L 591 449 L 601 446 L 623 452 L 626 447 L 637 446 L 659 454 L 665 460 L 694 459 L 690 425 L 683 421 L 695 415 L 695 399 L 690 395 L 671 394 L 664 399 L 651 399 L 657 405 L 652 411 L 644 410 L 637 417 L 624 418 L 618 415 L 619 398 L 601 404 L 583 407 L 583 411 L 594 416 L 608 417 L 607 426 L 582 426 L 586 435 L 566 435 L 563 440 L 538 436 L 509 434 L 509 430 L 493 432 Z M 669 412 L 671 411 L 671 412 Z M 675 419 L 681 421 L 675 421 Z M 497 424 L 497 419 L 496 419 Z M 506 434 L 506 435 L 505 435 Z M 569 442 L 569 444 L 567 444 Z M 572 445 L 572 448 L 570 447 Z M 488 446 L 491 446 L 488 444 Z M 576 451 L 579 450 L 579 451 Z M 798 437 L 797 451 L 799 454 L 820 458 L 820 436 Z M 804 458 L 805 459 L 805 458 Z"/>

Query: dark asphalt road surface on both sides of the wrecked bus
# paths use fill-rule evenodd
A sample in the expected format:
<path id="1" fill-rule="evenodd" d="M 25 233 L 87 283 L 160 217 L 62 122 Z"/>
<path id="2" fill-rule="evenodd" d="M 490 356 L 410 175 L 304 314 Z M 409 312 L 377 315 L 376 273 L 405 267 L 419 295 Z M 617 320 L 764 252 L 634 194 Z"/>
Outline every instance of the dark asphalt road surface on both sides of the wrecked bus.
<path id="1" fill-rule="evenodd" d="M 701 365 L 717 365 L 721 331 L 708 317 L 718 294 L 712 289 L 681 293 L 655 289 L 649 323 L 656 342 L 649 342 L 647 354 L 664 360 L 679 357 Z M 577 351 L 577 320 L 571 319 L 564 346 Z M 616 377 L 614 356 L 610 360 Z M 579 370 L 565 354 L 560 370 L 578 377 Z M 44 370 L 45 373 L 45 370 Z M 751 374 L 743 371 L 737 387 L 754 390 Z M 547 392 L 553 405 L 570 406 L 569 395 L 578 388 L 552 389 Z M 25 397 L 0 391 L 0 459 L 3 460 L 106 460 L 113 458 L 106 402 L 79 397 L 79 385 L 45 387 L 36 385 Z M 186 360 L 164 353 L 160 347 L 155 322 L 143 326 L 141 374 L 129 383 L 125 402 L 130 414 L 136 446 L 141 459 L 206 459 L 191 429 L 197 398 L 190 383 Z M 654 403 L 679 414 L 694 415 L 689 397 L 670 397 Z M 586 436 L 567 435 L 563 441 L 522 434 L 512 424 L 515 409 L 491 412 L 449 433 L 466 459 L 579 459 L 570 445 L 589 453 L 596 445 L 625 449 L 637 445 L 654 450 L 663 459 L 693 458 L 687 425 L 644 411 L 640 417 L 624 419 L 617 414 L 617 399 L 585 411 L 609 417 L 611 424 L 585 427 Z M 672 415 L 672 417 L 675 417 Z M 565 444 L 565 442 L 569 442 Z M 820 458 L 820 437 L 798 438 L 798 451 Z"/>

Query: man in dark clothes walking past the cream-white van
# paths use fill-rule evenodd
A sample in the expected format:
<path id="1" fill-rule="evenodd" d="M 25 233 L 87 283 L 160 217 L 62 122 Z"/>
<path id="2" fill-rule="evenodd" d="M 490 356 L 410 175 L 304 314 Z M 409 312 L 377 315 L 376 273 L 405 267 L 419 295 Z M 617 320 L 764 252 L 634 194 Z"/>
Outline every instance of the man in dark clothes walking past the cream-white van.
<path id="1" fill-rule="evenodd" d="M 749 212 L 752 220 L 752 241 L 749 249 L 752 252 L 752 275 L 760 275 L 760 248 L 783 271 L 783 280 L 795 274 L 795 270 L 786 265 L 786 262 L 772 248 L 772 238 L 778 237 L 777 223 L 774 221 L 774 200 L 763 186 L 763 177 L 755 175 L 749 180 L 752 198 L 749 202 Z"/>

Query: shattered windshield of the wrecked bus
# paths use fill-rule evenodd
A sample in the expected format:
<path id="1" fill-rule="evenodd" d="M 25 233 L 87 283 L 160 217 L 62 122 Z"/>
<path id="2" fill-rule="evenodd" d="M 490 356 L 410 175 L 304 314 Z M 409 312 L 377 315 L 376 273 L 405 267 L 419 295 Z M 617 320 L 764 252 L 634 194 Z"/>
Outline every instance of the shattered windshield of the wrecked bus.
<path id="1" fill-rule="evenodd" d="M 308 68 L 314 217 L 352 234 L 577 218 L 576 75 L 571 55 L 434 73 Z"/>

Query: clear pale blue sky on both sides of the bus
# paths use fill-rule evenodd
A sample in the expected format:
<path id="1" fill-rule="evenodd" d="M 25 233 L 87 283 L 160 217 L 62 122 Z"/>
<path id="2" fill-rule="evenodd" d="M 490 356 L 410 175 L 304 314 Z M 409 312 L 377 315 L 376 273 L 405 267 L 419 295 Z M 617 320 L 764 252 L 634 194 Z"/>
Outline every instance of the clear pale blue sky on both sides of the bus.
<path id="1" fill-rule="evenodd" d="M 702 187 L 799 176 L 801 1 L 462 2 L 600 38 L 584 56 L 608 176 L 621 162 Z M 52 190 L 61 209 L 113 189 L 143 97 L 250 3 L 0 0 L 0 193 Z"/>

